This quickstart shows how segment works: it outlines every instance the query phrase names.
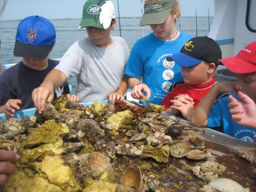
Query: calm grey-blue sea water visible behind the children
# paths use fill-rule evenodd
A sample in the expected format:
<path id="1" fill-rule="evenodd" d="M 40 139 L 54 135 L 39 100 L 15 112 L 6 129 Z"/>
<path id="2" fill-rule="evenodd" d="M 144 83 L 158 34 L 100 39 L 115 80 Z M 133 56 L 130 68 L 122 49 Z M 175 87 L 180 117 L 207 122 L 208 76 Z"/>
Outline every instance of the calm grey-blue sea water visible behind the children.
<path id="1" fill-rule="evenodd" d="M 210 27 L 213 17 L 210 17 Z M 13 56 L 15 44 L 15 35 L 20 21 L 0 21 L 0 39 L 1 39 L 1 63 L 17 63 L 21 58 Z M 62 19 L 51 20 L 56 29 L 56 44 L 51 52 L 51 59 L 61 58 L 67 49 L 77 40 L 87 36 L 85 29 L 78 28 L 80 19 Z M 124 38 L 129 48 L 141 37 L 152 32 L 149 26 L 141 27 L 140 18 L 120 18 L 121 36 Z M 178 30 L 196 36 L 196 18 L 181 17 L 176 24 Z M 197 18 L 197 36 L 207 36 L 209 33 L 208 17 Z M 111 32 L 111 36 L 120 36 L 119 20 L 117 19 L 116 28 Z M 72 85 L 72 93 L 75 93 L 77 84 L 76 77 L 68 80 Z"/>

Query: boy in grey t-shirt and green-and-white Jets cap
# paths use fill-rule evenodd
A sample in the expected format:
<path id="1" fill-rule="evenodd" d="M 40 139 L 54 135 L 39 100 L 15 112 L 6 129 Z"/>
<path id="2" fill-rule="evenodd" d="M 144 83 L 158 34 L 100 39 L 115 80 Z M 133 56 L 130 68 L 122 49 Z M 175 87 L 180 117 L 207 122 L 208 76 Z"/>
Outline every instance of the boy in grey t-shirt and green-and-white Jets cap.
<path id="1" fill-rule="evenodd" d="M 84 4 L 79 28 L 86 28 L 87 38 L 74 43 L 63 55 L 59 65 L 33 93 L 39 113 L 46 100 L 52 100 L 54 87 L 77 76 L 76 95 L 81 102 L 123 99 L 127 90 L 124 68 L 129 48 L 121 37 L 110 36 L 116 26 L 114 5 L 110 0 L 88 0 Z"/>

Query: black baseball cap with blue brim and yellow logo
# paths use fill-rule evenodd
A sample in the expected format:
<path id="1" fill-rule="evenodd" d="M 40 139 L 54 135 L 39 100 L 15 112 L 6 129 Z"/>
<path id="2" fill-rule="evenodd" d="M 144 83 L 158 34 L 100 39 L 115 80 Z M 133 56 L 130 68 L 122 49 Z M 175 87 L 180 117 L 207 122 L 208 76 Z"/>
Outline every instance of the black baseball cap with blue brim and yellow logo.
<path id="1" fill-rule="evenodd" d="M 194 37 L 190 39 L 179 53 L 167 57 L 167 61 L 175 61 L 181 67 L 191 67 L 201 63 L 215 63 L 221 59 L 222 53 L 219 44 L 209 37 Z"/>

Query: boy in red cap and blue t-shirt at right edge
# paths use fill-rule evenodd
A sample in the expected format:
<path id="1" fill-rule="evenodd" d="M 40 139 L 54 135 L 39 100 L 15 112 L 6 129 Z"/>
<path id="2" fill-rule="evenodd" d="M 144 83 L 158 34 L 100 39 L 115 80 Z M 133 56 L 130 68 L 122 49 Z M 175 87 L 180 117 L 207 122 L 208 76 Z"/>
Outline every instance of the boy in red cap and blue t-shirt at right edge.
<path id="1" fill-rule="evenodd" d="M 237 95 L 241 97 L 241 93 L 248 95 L 254 103 L 256 101 L 256 41 L 242 49 L 236 57 L 219 60 L 219 64 L 224 64 L 229 70 L 236 73 L 236 82 L 216 84 L 197 105 L 191 117 L 191 123 L 196 126 L 223 126 L 225 134 L 253 143 L 256 130 L 245 127 L 247 126 L 245 124 L 245 126 L 236 124 L 237 121 L 232 119 L 232 111 L 230 114 L 228 104 L 230 101 L 234 101 L 233 98 L 240 100 Z M 232 92 L 234 94 L 220 99 L 218 104 L 212 106 L 219 92 Z M 237 107 L 239 106 L 234 106 L 234 108 Z M 242 110 L 240 112 L 243 113 Z"/>

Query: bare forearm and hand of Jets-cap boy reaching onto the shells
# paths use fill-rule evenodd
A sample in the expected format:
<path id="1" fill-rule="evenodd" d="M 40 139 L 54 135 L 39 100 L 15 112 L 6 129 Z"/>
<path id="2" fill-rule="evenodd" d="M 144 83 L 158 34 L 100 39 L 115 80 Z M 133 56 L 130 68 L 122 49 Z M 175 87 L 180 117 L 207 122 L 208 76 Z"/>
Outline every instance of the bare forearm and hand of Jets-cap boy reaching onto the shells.
<path id="1" fill-rule="evenodd" d="M 58 69 L 53 69 L 44 78 L 44 82 L 40 87 L 34 89 L 32 92 L 32 99 L 39 114 L 44 111 L 45 101 L 48 100 L 51 102 L 53 100 L 54 90 L 64 84 L 67 80 L 68 79 L 64 73 Z"/>

